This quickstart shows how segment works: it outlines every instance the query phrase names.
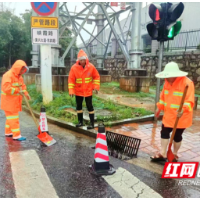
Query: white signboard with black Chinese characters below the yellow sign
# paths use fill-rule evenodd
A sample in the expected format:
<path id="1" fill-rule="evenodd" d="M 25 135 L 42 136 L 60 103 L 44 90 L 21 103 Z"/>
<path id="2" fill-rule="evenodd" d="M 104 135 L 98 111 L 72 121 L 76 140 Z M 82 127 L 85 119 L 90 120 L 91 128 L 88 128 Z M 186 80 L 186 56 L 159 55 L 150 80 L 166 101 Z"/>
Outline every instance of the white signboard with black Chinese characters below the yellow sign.
<path id="1" fill-rule="evenodd" d="M 58 30 L 32 28 L 32 43 L 50 45 L 58 44 Z"/>

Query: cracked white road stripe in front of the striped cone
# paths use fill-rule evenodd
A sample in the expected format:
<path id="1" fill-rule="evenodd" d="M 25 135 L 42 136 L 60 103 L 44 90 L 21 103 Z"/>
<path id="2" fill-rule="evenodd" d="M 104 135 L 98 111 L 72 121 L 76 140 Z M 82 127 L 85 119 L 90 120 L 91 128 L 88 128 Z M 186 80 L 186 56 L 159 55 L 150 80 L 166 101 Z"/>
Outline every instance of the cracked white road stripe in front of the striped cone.
<path id="1" fill-rule="evenodd" d="M 126 169 L 119 168 L 113 176 L 103 178 L 122 198 L 162 198 Z"/>

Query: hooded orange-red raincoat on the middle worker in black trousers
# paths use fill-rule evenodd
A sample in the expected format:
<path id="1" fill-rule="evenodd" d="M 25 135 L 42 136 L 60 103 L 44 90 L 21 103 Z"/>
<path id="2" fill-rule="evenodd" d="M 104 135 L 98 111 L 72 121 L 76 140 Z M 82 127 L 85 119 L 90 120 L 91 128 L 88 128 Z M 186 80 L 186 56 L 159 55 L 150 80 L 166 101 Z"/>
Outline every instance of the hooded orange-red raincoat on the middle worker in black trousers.
<path id="1" fill-rule="evenodd" d="M 80 57 L 87 58 L 86 66 L 83 68 L 79 64 L 79 60 L 72 66 L 68 80 L 69 94 L 89 97 L 92 96 L 94 89 L 100 89 L 100 75 L 95 66 L 89 62 L 87 54 L 83 50 L 80 50 L 78 54 L 78 58 Z"/>

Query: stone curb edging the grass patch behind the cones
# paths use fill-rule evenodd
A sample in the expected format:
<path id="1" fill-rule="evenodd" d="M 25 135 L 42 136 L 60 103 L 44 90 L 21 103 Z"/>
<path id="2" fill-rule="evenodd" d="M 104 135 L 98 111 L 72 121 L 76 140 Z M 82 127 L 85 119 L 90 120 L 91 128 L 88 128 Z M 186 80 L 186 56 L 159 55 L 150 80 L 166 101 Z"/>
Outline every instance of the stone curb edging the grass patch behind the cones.
<path id="1" fill-rule="evenodd" d="M 23 107 L 23 111 L 25 111 L 26 113 L 30 114 L 29 109 L 26 106 L 22 106 Z M 40 118 L 40 113 L 33 111 L 34 115 L 37 118 Z M 134 119 L 127 119 L 127 120 L 122 120 L 122 121 L 116 121 L 116 122 L 111 122 L 111 123 L 105 123 L 105 125 L 121 125 L 121 124 L 128 124 L 128 123 L 137 123 L 137 122 L 146 122 L 146 121 L 153 121 L 154 120 L 154 115 L 148 115 L 145 117 L 138 117 L 138 118 L 134 118 Z M 57 118 L 54 117 L 50 117 L 47 116 L 47 121 L 51 124 L 57 125 L 59 127 L 62 128 L 66 128 L 69 129 L 71 131 L 75 131 L 77 133 L 95 138 L 97 137 L 97 131 L 96 130 L 87 130 L 87 127 L 84 126 L 82 128 L 76 128 L 74 124 L 72 123 L 67 123 L 63 120 L 58 120 Z M 95 128 L 98 127 L 97 124 L 95 124 Z"/>

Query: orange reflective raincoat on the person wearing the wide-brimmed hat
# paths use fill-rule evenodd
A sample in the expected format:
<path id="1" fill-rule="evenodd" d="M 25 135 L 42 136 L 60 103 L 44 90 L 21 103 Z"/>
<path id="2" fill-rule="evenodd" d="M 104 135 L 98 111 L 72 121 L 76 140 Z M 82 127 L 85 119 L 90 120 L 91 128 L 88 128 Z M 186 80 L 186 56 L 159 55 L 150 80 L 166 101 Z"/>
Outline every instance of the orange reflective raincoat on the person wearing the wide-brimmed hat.
<path id="1" fill-rule="evenodd" d="M 194 107 L 194 83 L 187 77 L 177 78 L 173 85 L 165 80 L 163 91 L 160 95 L 160 101 L 157 106 L 164 110 L 163 124 L 165 127 L 173 128 L 177 110 L 179 109 L 183 92 L 186 85 L 189 85 L 183 106 L 184 114 L 178 123 L 178 129 L 185 129 L 192 125 L 193 107 Z"/>

